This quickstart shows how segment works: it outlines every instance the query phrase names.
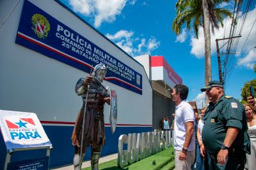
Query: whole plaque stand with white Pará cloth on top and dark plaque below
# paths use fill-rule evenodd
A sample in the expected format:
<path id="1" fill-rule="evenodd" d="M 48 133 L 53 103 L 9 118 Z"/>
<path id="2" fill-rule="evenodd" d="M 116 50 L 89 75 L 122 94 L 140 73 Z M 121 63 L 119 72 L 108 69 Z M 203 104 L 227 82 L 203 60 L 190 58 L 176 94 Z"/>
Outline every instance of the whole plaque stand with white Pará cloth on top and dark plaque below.
<path id="1" fill-rule="evenodd" d="M 4 170 L 49 169 L 52 144 L 35 113 L 0 110 L 0 130 L 6 145 Z M 42 149 L 46 150 L 44 156 L 26 154 L 11 161 L 15 152 Z"/>

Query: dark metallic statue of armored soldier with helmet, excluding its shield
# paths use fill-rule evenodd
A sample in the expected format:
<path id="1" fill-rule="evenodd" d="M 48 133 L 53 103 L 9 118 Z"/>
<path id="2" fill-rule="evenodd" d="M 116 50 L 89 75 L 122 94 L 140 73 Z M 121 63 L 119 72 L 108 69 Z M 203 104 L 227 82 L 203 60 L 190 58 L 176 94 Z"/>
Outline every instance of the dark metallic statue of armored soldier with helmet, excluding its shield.
<path id="1" fill-rule="evenodd" d="M 102 85 L 106 72 L 103 64 L 97 64 L 90 76 L 80 78 L 76 83 L 76 93 L 82 97 L 83 106 L 72 134 L 75 170 L 81 169 L 88 146 L 92 148 L 92 169 L 98 169 L 100 151 L 105 144 L 104 104 L 110 103 L 108 88 Z"/>

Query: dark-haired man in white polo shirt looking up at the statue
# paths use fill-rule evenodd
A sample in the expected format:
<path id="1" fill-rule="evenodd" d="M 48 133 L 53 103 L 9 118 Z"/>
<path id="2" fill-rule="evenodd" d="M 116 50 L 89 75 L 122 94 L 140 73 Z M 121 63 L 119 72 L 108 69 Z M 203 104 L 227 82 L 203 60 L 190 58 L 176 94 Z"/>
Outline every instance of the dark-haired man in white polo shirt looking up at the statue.
<path id="1" fill-rule="evenodd" d="M 175 85 L 172 100 L 176 103 L 174 119 L 175 169 L 191 169 L 195 160 L 195 114 L 191 105 L 186 102 L 188 87 Z"/>

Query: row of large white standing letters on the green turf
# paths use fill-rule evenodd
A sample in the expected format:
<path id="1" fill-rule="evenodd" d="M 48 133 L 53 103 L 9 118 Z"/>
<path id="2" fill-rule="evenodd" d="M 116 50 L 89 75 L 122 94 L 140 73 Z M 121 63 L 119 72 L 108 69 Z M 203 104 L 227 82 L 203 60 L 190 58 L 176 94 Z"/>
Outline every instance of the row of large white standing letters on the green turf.
<path id="1" fill-rule="evenodd" d="M 118 139 L 118 167 L 133 164 L 172 146 L 171 131 L 122 134 Z M 127 144 L 127 150 L 124 145 Z"/>

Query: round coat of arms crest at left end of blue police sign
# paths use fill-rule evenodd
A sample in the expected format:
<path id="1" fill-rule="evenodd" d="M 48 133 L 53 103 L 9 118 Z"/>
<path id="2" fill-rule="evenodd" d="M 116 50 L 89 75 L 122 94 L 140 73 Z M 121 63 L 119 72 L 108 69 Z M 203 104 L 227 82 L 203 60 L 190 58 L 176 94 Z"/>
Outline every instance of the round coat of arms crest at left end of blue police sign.
<path id="1" fill-rule="evenodd" d="M 51 27 L 44 15 L 34 14 L 31 18 L 31 24 L 33 25 L 31 29 L 33 29 L 38 38 L 47 38 Z"/>

